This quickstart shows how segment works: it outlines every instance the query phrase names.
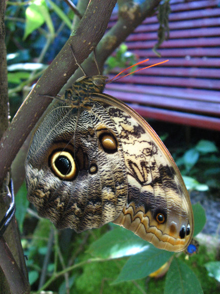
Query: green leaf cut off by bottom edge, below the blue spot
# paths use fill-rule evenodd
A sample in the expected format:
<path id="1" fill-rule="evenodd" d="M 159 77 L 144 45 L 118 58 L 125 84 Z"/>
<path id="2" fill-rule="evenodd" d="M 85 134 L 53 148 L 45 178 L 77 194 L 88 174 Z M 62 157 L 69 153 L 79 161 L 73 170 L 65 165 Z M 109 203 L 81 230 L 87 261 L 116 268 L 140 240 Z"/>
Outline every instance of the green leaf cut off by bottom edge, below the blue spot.
<path id="1" fill-rule="evenodd" d="M 174 258 L 166 276 L 164 294 L 203 294 L 203 291 L 195 273 Z"/>

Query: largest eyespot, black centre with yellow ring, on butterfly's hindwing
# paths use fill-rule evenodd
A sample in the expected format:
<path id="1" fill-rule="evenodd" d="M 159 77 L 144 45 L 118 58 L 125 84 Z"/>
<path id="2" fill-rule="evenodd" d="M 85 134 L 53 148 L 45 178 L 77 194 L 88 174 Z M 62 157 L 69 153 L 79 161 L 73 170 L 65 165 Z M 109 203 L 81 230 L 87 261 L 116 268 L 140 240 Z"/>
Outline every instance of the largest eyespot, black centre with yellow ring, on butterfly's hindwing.
<path id="1" fill-rule="evenodd" d="M 49 157 L 49 166 L 61 180 L 73 180 L 77 173 L 74 158 L 69 150 L 55 150 Z"/>

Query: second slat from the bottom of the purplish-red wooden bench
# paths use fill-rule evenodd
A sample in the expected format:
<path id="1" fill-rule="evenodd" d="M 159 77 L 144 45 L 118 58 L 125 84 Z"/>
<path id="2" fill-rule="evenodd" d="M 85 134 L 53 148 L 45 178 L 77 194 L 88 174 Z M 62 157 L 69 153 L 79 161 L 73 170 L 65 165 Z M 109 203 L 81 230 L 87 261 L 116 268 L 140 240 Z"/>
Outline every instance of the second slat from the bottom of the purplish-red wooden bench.
<path id="1" fill-rule="evenodd" d="M 220 103 L 210 103 L 206 101 L 193 101 L 172 97 L 143 95 L 138 93 L 125 93 L 120 91 L 106 90 L 107 94 L 116 97 L 124 102 L 144 104 L 163 108 L 181 109 L 198 113 L 209 113 L 220 115 Z"/>

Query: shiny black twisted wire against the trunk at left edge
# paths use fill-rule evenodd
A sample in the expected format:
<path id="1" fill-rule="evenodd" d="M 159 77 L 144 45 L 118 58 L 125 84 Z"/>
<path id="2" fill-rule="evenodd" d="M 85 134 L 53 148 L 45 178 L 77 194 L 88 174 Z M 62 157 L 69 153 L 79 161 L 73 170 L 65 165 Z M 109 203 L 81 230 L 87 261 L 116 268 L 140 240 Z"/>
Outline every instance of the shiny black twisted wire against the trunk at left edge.
<path id="1" fill-rule="evenodd" d="M 0 221 L 0 237 L 3 236 L 5 230 L 7 229 L 10 221 L 12 220 L 14 214 L 15 214 L 15 196 L 14 196 L 14 186 L 12 179 L 10 180 L 10 190 L 8 190 L 8 195 L 11 196 L 11 204 L 5 213 L 4 217 Z"/>

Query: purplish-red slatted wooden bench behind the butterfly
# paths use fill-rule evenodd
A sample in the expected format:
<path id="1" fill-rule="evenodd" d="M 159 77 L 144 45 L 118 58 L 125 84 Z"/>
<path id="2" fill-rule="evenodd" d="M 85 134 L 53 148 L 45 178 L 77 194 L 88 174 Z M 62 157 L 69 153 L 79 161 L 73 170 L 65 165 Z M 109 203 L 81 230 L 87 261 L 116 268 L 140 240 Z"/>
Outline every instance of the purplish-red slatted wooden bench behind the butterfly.
<path id="1" fill-rule="evenodd" d="M 218 0 L 171 0 L 170 38 L 158 49 L 158 21 L 148 18 L 127 38 L 128 50 L 146 67 L 106 85 L 105 92 L 132 106 L 141 116 L 220 130 L 220 7 Z M 109 26 L 117 20 L 113 14 Z M 110 78 L 113 75 L 110 75 Z"/>

